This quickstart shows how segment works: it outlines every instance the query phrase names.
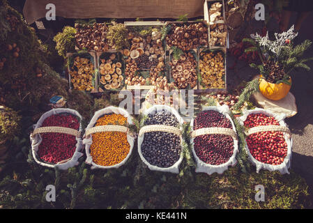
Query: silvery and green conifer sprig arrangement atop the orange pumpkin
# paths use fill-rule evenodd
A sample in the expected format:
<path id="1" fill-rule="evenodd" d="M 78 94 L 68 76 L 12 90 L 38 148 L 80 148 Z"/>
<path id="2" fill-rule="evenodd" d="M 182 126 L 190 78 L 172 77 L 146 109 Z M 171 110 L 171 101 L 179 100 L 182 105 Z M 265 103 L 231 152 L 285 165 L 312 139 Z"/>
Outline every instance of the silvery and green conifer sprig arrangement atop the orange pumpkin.
<path id="1" fill-rule="evenodd" d="M 252 45 L 245 49 L 245 52 L 258 52 L 261 64 L 251 63 L 250 67 L 259 70 L 261 77 L 247 82 L 235 108 L 241 107 L 245 101 L 249 100 L 252 93 L 260 91 L 260 83 L 265 81 L 266 84 L 285 84 L 287 85 L 286 91 L 289 91 L 291 71 L 297 68 L 310 70 L 305 63 L 312 61 L 313 57 L 305 58 L 304 52 L 311 47 L 312 41 L 305 40 L 299 45 L 293 45 L 294 38 L 298 36 L 298 33 L 294 32 L 293 26 L 283 33 L 275 33 L 274 36 L 275 40 L 270 40 L 268 33 L 266 36 L 256 33 L 252 34 L 251 38 L 243 39 L 243 42 Z M 263 91 L 261 93 L 264 94 Z"/>

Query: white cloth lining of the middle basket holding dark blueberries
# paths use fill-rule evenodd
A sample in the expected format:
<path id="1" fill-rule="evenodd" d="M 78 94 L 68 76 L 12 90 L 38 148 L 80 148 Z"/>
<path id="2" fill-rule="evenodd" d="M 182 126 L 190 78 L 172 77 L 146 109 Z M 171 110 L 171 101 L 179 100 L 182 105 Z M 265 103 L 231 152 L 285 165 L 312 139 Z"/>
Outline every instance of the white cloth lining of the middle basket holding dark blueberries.
<path id="1" fill-rule="evenodd" d="M 183 118 L 178 114 L 176 109 L 174 109 L 173 107 L 169 107 L 167 105 L 153 105 L 152 107 L 144 110 L 142 114 L 144 115 L 155 114 L 155 112 L 161 112 L 162 110 L 171 112 L 171 114 L 174 114 L 174 116 L 176 116 L 178 123 L 180 125 L 183 124 Z M 181 128 L 181 131 L 183 131 L 183 128 Z M 181 157 L 179 157 L 178 161 L 175 162 L 171 167 L 157 167 L 148 163 L 148 161 L 146 161 L 146 159 L 144 158 L 144 155 L 142 155 L 142 142 L 144 141 L 144 134 L 141 137 L 138 137 L 139 156 L 144 162 L 144 164 L 146 164 L 148 168 L 151 169 L 152 171 L 163 171 L 163 172 L 170 172 L 173 174 L 179 174 L 179 165 L 183 161 L 183 137 L 180 136 L 179 138 L 181 139 Z"/>

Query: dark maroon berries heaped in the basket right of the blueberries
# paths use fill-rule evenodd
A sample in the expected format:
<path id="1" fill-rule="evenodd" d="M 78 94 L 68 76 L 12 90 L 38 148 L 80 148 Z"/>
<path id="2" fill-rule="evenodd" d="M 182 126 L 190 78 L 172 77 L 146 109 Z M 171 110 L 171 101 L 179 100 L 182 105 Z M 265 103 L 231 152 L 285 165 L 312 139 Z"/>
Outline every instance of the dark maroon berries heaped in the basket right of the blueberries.
<path id="1" fill-rule="evenodd" d="M 201 112 L 194 119 L 194 130 L 200 128 L 232 128 L 226 116 L 216 111 Z M 206 164 L 220 165 L 234 153 L 234 140 L 224 134 L 205 134 L 194 138 L 194 152 Z"/>

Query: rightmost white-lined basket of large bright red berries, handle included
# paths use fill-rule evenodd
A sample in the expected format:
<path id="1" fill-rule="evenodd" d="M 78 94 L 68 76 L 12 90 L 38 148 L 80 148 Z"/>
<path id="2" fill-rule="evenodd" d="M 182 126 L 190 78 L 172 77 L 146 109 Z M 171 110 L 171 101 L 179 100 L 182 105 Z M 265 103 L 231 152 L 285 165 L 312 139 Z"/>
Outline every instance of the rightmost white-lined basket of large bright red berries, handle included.
<path id="1" fill-rule="evenodd" d="M 268 171 L 289 174 L 291 164 L 291 132 L 284 123 L 284 114 L 274 114 L 265 109 L 245 110 L 239 117 L 247 128 L 246 151 L 252 164 Z"/>

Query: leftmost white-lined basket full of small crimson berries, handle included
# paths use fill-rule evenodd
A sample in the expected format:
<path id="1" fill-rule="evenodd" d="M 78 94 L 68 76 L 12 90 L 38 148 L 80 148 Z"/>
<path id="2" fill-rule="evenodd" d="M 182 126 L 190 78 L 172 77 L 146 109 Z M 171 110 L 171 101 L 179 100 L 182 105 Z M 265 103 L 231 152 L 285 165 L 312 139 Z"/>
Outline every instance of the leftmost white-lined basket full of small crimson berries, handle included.
<path id="1" fill-rule="evenodd" d="M 44 167 L 68 169 L 79 164 L 82 151 L 82 116 L 73 109 L 52 109 L 43 114 L 31 133 L 33 159 Z"/>

